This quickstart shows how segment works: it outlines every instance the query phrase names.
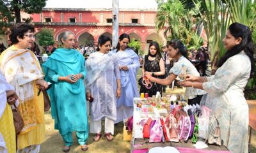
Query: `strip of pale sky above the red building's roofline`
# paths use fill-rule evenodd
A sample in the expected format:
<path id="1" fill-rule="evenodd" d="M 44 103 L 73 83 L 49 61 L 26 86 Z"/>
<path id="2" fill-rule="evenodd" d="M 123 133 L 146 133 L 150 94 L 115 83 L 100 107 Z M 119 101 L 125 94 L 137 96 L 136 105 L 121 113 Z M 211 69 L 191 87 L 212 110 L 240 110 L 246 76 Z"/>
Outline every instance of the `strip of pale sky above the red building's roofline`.
<path id="1" fill-rule="evenodd" d="M 112 8 L 112 0 L 47 0 L 45 8 Z M 155 0 L 119 0 L 119 8 L 156 9 Z"/>

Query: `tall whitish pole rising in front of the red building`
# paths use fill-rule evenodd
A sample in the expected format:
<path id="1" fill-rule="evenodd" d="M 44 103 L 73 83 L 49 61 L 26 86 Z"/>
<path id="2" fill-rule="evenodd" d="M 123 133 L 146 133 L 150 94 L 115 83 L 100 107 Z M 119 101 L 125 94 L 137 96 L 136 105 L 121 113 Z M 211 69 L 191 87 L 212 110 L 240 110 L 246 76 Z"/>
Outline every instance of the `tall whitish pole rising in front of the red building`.
<path id="1" fill-rule="evenodd" d="M 112 13 L 113 13 L 113 33 L 112 33 L 112 45 L 116 47 L 118 43 L 118 4 L 119 0 L 112 0 Z"/>

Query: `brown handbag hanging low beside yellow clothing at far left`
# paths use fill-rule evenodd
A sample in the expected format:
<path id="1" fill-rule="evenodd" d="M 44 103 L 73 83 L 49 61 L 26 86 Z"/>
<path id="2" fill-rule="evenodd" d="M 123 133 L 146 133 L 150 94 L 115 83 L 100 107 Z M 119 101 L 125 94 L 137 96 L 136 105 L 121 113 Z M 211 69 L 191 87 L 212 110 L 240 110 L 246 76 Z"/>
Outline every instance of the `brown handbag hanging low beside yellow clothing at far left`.
<path id="1" fill-rule="evenodd" d="M 22 116 L 20 115 L 19 110 L 17 109 L 16 105 L 13 105 L 15 108 L 12 108 L 12 115 L 13 115 L 13 124 L 15 128 L 16 135 L 19 135 L 19 133 L 22 131 L 22 128 L 24 127 L 24 121 L 22 119 Z"/>

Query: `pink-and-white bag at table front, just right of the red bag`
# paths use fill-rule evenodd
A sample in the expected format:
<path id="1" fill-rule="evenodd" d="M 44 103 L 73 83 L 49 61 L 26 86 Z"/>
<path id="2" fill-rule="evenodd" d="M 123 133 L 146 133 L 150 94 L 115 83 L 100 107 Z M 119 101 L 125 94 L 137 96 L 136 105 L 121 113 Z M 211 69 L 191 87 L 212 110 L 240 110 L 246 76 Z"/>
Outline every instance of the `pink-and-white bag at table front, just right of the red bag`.
<path id="1" fill-rule="evenodd" d="M 150 129 L 149 142 L 161 142 L 163 138 L 163 129 L 159 120 L 156 120 L 152 129 Z"/>

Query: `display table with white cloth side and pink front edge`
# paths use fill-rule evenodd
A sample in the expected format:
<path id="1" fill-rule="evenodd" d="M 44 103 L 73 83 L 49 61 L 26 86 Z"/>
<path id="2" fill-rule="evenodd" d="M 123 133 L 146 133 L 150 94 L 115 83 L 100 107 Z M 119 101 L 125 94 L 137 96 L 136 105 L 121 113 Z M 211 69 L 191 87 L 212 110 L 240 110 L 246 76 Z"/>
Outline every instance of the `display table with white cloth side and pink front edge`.
<path id="1" fill-rule="evenodd" d="M 193 146 L 193 143 L 191 143 L 191 140 L 188 140 L 188 142 L 186 143 L 183 140 L 179 143 L 175 143 L 175 142 L 145 143 L 145 140 L 143 139 L 143 133 L 142 133 L 143 125 L 141 123 L 141 120 L 147 120 L 148 117 L 152 117 L 154 119 L 154 117 L 156 117 L 156 114 L 154 112 L 141 112 L 140 108 L 137 108 L 137 106 L 135 105 L 135 103 L 137 103 L 140 100 L 142 99 L 134 98 L 134 114 L 133 114 L 133 128 L 132 128 L 133 130 L 132 130 L 132 141 L 131 141 L 132 153 L 143 152 L 152 147 L 166 147 L 166 146 L 180 147 L 180 149 L 178 148 L 180 153 L 186 152 L 185 150 L 188 150 L 189 148 L 193 150 L 192 152 L 208 152 L 206 150 L 214 150 L 214 152 L 228 152 L 226 147 L 224 146 L 220 147 L 218 145 L 208 145 L 209 147 L 206 149 L 195 149 L 195 147 Z M 184 151 L 182 151 L 182 149 Z"/>

